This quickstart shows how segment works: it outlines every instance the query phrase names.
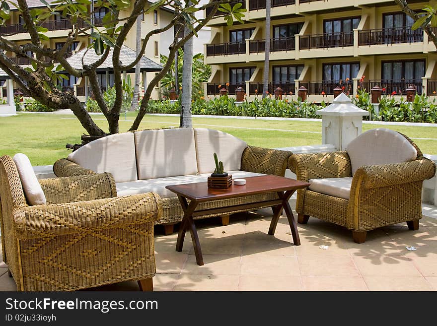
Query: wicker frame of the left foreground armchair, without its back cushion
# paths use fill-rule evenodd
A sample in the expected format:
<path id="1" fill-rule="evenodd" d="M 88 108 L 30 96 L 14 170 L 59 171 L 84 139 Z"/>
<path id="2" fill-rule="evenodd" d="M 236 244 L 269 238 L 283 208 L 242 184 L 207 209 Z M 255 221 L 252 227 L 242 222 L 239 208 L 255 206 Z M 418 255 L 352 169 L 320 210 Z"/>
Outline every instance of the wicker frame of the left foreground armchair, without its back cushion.
<path id="1" fill-rule="evenodd" d="M 0 157 L 3 261 L 21 291 L 71 291 L 125 280 L 152 290 L 160 197 L 117 197 L 109 173 L 40 180 L 29 206 L 11 157 Z"/>

